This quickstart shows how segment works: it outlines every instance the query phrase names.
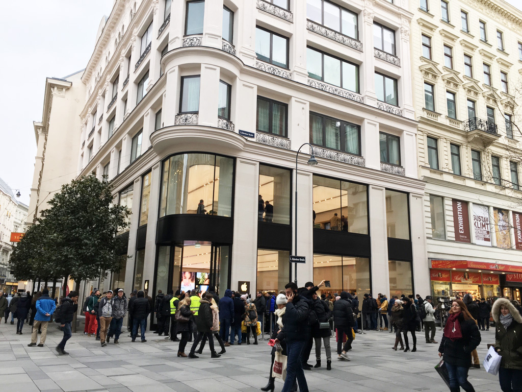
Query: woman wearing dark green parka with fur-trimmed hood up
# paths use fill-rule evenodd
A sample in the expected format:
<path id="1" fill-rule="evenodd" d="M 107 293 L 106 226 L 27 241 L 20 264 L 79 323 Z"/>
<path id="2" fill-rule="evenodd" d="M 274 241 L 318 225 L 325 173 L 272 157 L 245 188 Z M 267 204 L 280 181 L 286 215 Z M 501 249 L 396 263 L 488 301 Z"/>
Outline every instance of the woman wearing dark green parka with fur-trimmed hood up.
<path id="1" fill-rule="evenodd" d="M 522 391 L 522 316 L 506 298 L 499 298 L 491 309 L 495 320 L 495 350 L 502 356 L 500 388 L 504 392 Z"/>

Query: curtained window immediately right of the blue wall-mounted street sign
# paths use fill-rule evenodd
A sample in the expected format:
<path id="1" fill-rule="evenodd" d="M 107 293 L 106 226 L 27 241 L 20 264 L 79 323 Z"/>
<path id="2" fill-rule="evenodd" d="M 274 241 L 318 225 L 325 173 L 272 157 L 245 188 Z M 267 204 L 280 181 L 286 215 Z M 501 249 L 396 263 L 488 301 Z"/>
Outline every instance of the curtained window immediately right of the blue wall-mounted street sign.
<path id="1" fill-rule="evenodd" d="M 257 97 L 257 131 L 287 137 L 288 105 L 265 97 Z"/>

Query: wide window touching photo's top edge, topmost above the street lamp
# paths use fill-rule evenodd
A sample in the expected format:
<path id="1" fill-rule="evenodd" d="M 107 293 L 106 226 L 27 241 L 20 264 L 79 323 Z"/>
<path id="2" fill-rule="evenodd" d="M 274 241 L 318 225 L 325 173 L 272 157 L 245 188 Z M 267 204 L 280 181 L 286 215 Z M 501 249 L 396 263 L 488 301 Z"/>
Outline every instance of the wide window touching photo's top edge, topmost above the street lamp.
<path id="1" fill-rule="evenodd" d="M 306 18 L 345 36 L 359 39 L 357 14 L 337 4 L 326 0 L 307 0 Z"/>

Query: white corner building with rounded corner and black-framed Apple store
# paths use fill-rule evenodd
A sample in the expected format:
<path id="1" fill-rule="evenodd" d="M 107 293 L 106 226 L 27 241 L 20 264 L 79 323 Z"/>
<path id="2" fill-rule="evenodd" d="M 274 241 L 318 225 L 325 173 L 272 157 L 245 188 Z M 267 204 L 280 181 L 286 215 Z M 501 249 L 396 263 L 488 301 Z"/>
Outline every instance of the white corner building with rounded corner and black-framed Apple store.
<path id="1" fill-rule="evenodd" d="M 105 285 L 277 291 L 297 228 L 301 285 L 428 286 L 411 17 L 384 1 L 117 0 L 78 146 L 78 173 L 107 175 L 132 210 L 132 258 Z"/>

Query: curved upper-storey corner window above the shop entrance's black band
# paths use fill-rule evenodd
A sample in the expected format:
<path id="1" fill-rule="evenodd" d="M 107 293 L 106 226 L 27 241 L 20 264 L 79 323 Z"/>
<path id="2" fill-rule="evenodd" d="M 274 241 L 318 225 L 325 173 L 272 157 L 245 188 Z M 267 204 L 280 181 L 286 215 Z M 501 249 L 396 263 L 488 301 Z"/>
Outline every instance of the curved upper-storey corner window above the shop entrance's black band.
<path id="1" fill-rule="evenodd" d="M 234 159 L 213 154 L 179 154 L 163 161 L 160 216 L 232 216 Z"/>

